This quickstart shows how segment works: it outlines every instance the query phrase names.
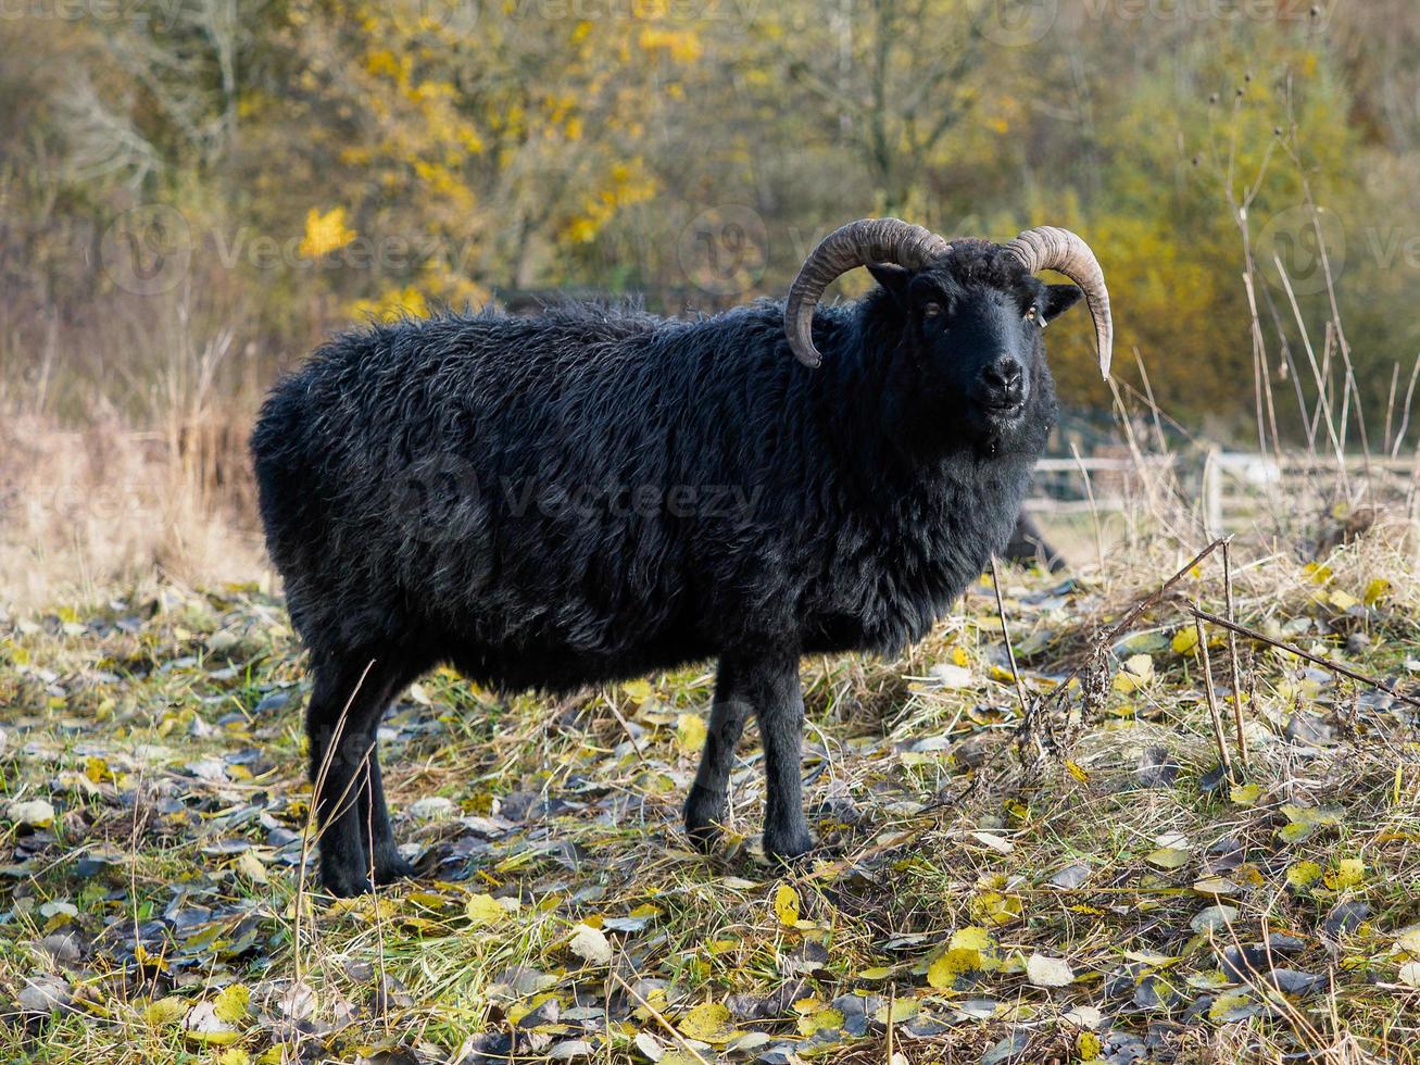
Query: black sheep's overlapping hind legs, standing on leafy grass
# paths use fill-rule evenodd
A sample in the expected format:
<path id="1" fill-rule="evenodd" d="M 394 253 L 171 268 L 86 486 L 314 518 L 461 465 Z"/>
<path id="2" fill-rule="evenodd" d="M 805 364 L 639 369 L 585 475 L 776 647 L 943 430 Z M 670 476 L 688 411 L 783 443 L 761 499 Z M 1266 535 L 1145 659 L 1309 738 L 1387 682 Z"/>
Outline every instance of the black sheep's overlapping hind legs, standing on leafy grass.
<path id="1" fill-rule="evenodd" d="M 320 826 L 321 882 L 338 896 L 409 872 L 399 856 L 375 750 L 381 714 L 400 687 L 392 656 L 332 657 L 315 667 L 307 709 L 311 782 Z"/>

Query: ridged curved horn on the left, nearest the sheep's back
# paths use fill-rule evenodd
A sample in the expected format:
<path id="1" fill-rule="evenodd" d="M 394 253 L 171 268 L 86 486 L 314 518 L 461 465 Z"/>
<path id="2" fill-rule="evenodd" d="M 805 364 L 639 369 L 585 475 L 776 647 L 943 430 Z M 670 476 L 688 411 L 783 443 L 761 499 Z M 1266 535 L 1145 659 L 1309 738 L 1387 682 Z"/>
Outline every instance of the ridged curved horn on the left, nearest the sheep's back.
<path id="1" fill-rule="evenodd" d="M 839 226 L 815 247 L 790 285 L 784 307 L 784 332 L 790 351 L 805 366 L 816 368 L 822 356 L 814 346 L 814 308 L 824 290 L 839 274 L 868 263 L 895 263 L 919 270 L 950 250 L 932 230 L 900 219 L 862 219 Z"/>

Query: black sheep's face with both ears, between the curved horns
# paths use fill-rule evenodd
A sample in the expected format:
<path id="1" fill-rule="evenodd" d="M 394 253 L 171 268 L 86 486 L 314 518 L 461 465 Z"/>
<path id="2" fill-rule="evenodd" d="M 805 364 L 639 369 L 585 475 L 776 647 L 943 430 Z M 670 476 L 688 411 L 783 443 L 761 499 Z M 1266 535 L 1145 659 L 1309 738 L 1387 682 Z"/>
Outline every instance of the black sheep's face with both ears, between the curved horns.
<path id="1" fill-rule="evenodd" d="M 981 247 L 924 270 L 872 273 L 902 317 L 907 383 L 943 425 L 1007 436 L 1052 388 L 1042 329 L 1081 298 L 1075 285 L 1047 285 Z"/>

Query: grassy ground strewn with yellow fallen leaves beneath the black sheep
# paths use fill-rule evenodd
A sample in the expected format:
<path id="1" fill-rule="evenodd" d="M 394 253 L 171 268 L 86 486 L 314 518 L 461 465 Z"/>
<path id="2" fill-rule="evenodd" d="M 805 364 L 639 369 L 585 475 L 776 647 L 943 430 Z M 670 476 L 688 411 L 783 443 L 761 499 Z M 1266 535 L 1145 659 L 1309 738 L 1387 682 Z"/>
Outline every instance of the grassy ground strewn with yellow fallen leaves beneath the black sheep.
<path id="1" fill-rule="evenodd" d="M 1242 622 L 1413 686 L 1403 550 L 1234 554 Z M 1004 571 L 1027 697 L 1187 557 Z M 791 869 L 754 838 L 753 728 L 724 843 L 682 836 L 709 669 L 557 703 L 436 673 L 382 734 L 423 875 L 338 903 L 301 872 L 278 601 L 163 585 L 10 618 L 0 1058 L 1413 1061 L 1411 707 L 1242 640 L 1250 767 L 1220 780 L 1181 635 L 1189 602 L 1221 611 L 1216 571 L 1108 649 L 1099 706 L 1034 730 L 988 584 L 902 660 L 805 662 L 822 849 Z"/>

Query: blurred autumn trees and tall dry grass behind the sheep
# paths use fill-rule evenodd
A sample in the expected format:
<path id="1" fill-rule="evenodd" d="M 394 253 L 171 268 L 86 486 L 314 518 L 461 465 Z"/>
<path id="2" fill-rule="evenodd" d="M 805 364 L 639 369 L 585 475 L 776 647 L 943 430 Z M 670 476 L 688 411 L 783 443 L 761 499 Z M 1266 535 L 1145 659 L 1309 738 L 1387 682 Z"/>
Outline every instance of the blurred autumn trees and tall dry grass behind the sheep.
<path id="1" fill-rule="evenodd" d="M 1091 241 L 1066 425 L 1145 439 L 1059 456 L 1407 457 L 1417 178 L 1411 0 L 3 0 L 0 601 L 260 577 L 247 429 L 332 329 L 710 312 L 868 214 Z"/>

